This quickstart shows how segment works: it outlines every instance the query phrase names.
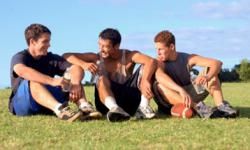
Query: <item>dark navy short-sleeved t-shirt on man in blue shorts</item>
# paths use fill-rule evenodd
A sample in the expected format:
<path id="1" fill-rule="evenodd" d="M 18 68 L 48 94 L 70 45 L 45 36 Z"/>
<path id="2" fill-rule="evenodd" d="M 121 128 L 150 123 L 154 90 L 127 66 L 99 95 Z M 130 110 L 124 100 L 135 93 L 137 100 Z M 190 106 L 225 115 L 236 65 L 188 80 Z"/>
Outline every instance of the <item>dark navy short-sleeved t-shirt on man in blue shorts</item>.
<path id="1" fill-rule="evenodd" d="M 23 80 L 23 78 L 19 77 L 13 70 L 16 64 L 24 64 L 51 77 L 55 75 L 62 76 L 66 68 L 71 66 L 63 57 L 51 52 L 48 52 L 46 56 L 42 56 L 40 59 L 34 59 L 27 49 L 20 51 L 11 59 L 10 77 L 13 94 Z"/>

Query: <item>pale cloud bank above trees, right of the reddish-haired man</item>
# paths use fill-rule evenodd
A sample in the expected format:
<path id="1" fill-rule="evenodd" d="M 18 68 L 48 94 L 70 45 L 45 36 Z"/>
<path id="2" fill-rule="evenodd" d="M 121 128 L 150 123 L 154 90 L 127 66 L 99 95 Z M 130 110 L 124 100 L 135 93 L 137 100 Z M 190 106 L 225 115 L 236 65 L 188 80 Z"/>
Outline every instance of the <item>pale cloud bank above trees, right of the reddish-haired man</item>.
<path id="1" fill-rule="evenodd" d="M 220 59 L 230 68 L 250 58 L 250 29 L 178 29 L 177 50 Z"/>

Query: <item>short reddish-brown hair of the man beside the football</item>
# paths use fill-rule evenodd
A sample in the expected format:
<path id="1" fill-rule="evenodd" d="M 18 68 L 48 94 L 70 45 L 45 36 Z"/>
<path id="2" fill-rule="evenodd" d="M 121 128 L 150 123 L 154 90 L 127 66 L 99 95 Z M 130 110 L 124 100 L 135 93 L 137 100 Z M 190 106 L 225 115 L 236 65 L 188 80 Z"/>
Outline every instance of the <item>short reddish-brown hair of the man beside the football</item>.
<path id="1" fill-rule="evenodd" d="M 173 33 L 171 33 L 168 30 L 163 30 L 161 32 L 159 32 L 155 38 L 154 38 L 154 42 L 160 42 L 160 43 L 165 43 L 165 46 L 170 46 L 170 44 L 174 44 L 175 45 L 175 37 L 173 35 Z"/>

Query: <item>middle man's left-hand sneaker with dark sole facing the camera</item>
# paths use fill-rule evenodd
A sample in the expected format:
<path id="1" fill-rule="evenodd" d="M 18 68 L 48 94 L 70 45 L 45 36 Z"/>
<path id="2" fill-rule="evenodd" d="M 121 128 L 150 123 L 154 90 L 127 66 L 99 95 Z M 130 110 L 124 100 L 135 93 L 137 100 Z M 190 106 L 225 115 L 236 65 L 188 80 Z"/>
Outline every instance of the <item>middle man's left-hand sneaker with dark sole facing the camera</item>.
<path id="1" fill-rule="evenodd" d="M 130 115 L 126 113 L 121 107 L 113 107 L 107 113 L 107 119 L 110 122 L 129 120 Z"/>

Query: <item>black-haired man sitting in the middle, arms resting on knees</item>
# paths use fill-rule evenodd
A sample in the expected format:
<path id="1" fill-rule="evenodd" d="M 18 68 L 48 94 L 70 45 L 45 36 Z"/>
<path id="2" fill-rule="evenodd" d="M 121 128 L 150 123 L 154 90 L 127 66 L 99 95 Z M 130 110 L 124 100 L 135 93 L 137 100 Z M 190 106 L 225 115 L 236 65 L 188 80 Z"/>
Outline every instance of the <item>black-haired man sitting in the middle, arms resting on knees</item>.
<path id="1" fill-rule="evenodd" d="M 153 96 L 151 77 L 156 61 L 138 51 L 120 49 L 120 43 L 119 31 L 107 28 L 99 35 L 98 54 L 68 53 L 64 57 L 69 62 L 82 66 L 84 70 L 98 74 L 95 87 L 96 108 L 106 114 L 109 121 L 124 121 L 133 115 L 136 118 L 154 118 L 155 113 L 149 106 L 149 100 Z M 136 64 L 141 67 L 133 73 Z"/>

